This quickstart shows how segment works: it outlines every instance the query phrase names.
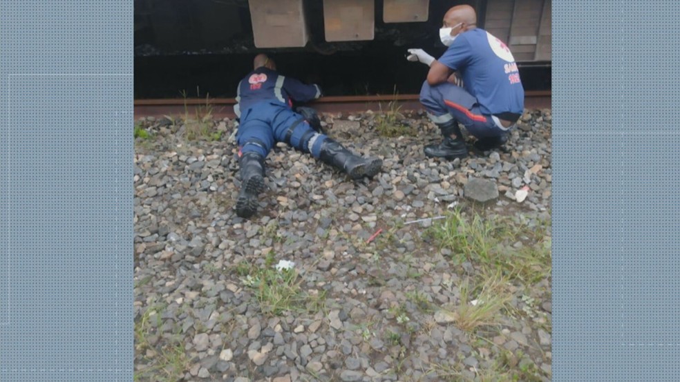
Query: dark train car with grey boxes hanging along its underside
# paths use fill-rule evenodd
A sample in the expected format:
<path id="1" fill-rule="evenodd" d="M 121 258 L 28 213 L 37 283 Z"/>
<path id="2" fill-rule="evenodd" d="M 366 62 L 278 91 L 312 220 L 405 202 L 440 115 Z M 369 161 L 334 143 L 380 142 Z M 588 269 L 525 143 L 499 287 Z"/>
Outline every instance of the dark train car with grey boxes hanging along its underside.
<path id="1" fill-rule="evenodd" d="M 135 0 L 135 99 L 235 97 L 258 52 L 327 96 L 417 94 L 442 17 L 469 3 L 508 44 L 525 90 L 551 86 L 551 0 Z"/>

